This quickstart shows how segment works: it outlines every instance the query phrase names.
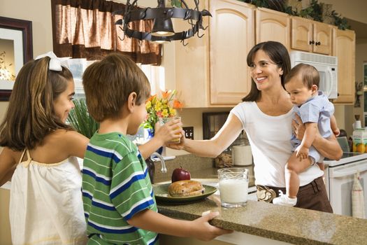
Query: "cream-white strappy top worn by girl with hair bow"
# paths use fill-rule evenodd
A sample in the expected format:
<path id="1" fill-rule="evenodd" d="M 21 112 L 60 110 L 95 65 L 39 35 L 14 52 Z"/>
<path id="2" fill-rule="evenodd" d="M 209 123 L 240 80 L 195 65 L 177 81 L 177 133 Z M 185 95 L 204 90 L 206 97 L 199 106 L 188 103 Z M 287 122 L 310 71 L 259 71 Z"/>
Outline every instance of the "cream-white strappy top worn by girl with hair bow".
<path id="1" fill-rule="evenodd" d="M 44 164 L 27 155 L 11 179 L 13 244 L 86 244 L 78 160 Z"/>

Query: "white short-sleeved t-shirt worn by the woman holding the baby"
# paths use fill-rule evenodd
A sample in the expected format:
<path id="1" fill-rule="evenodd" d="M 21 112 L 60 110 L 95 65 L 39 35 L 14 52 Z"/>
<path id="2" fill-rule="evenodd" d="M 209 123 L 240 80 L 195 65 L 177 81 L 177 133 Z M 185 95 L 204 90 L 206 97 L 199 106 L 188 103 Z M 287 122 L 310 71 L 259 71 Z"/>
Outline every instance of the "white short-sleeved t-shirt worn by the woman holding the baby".
<path id="1" fill-rule="evenodd" d="M 241 121 L 250 141 L 255 183 L 285 187 L 285 164 L 292 155 L 292 109 L 281 116 L 268 116 L 256 102 L 242 102 L 231 113 Z M 300 186 L 323 174 L 317 165 L 312 165 L 298 174 Z"/>

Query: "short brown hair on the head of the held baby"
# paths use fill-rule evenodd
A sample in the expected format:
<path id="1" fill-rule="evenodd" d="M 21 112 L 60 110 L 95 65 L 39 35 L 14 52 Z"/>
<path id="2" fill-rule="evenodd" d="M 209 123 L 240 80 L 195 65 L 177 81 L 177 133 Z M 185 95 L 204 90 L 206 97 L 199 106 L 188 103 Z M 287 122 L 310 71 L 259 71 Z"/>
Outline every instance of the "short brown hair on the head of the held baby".
<path id="1" fill-rule="evenodd" d="M 319 71 L 314 66 L 310 64 L 297 64 L 294 66 L 291 71 L 285 76 L 285 83 L 288 83 L 289 80 L 296 76 L 301 76 L 303 85 L 308 87 L 309 89 L 312 88 L 312 85 L 317 85 L 319 87 Z"/>

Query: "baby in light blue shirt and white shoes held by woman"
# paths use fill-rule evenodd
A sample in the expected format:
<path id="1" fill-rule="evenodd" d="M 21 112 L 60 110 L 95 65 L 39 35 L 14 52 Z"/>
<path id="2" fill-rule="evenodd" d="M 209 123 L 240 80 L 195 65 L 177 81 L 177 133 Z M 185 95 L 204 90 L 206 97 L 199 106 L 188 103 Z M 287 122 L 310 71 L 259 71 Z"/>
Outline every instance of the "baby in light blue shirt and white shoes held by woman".
<path id="1" fill-rule="evenodd" d="M 291 143 L 294 153 L 285 166 L 285 183 L 287 194 L 276 197 L 273 204 L 294 206 L 297 202 L 299 189 L 298 174 L 316 163 L 321 163 L 324 157 L 312 146 L 317 128 L 322 137 L 339 134 L 336 119 L 333 116 L 334 106 L 326 95 L 317 90 L 319 72 L 314 66 L 298 64 L 285 77 L 285 90 L 290 94 L 294 112 L 305 124 L 305 134 L 302 141 L 293 135 Z"/>

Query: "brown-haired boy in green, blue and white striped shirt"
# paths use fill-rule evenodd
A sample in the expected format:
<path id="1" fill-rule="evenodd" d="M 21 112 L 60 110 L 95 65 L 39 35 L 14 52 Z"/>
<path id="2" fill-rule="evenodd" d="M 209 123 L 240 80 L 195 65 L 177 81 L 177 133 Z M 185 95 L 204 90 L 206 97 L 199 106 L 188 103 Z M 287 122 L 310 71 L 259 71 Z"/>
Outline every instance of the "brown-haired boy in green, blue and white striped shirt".
<path id="1" fill-rule="evenodd" d="M 112 54 L 85 70 L 83 85 L 88 111 L 100 123 L 82 170 L 88 244 L 159 244 L 157 233 L 202 240 L 229 233 L 209 225 L 217 213 L 196 221 L 157 213 L 145 161 L 126 137 L 147 115 L 150 84 L 143 71 L 129 57 Z"/>

